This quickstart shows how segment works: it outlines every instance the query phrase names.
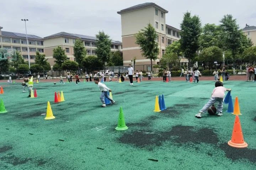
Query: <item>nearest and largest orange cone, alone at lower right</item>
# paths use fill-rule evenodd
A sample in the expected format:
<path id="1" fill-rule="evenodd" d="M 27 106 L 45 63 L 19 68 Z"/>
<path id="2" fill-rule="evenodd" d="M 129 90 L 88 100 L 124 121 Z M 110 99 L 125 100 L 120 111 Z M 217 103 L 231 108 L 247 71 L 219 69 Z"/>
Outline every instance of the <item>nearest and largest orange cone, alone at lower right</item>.
<path id="1" fill-rule="evenodd" d="M 242 135 L 242 128 L 238 115 L 235 117 L 232 137 L 231 140 L 228 141 L 228 145 L 235 148 L 246 148 L 248 146 Z"/>

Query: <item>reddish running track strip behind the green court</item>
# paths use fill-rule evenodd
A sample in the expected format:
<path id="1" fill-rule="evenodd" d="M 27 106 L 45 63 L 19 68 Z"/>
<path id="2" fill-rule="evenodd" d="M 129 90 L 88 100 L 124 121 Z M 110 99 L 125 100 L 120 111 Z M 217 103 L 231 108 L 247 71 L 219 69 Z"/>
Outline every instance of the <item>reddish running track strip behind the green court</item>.
<path id="1" fill-rule="evenodd" d="M 185 81 L 185 77 L 171 77 L 172 81 Z M 199 80 L 214 80 L 214 76 L 202 76 L 199 77 Z M 240 81 L 246 81 L 246 76 L 230 76 L 229 80 L 240 80 Z M 12 80 L 13 81 L 13 80 Z M 64 82 L 66 82 L 66 79 L 63 79 Z M 73 79 L 75 82 L 75 79 Z M 84 81 L 84 78 L 80 78 L 80 81 Z M 108 77 L 106 78 L 106 81 L 108 82 Z M 117 78 L 114 78 L 112 81 L 117 81 Z M 127 81 L 127 80 L 125 80 Z M 133 81 L 135 81 L 135 77 L 133 77 Z M 143 77 L 142 81 L 148 81 L 148 77 Z M 151 81 L 162 81 L 162 77 L 152 77 Z M 0 82 L 7 82 L 7 80 L 0 80 Z M 15 80 L 15 82 L 23 82 L 23 79 Z M 36 80 L 34 81 L 36 82 Z M 40 82 L 59 82 L 59 79 L 41 79 Z"/>

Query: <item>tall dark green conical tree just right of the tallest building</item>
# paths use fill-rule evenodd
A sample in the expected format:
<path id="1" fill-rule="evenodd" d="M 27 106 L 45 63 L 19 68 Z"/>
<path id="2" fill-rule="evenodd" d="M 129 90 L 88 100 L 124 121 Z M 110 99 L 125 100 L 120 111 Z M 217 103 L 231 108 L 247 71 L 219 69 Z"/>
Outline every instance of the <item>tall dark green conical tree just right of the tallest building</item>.
<path id="1" fill-rule="evenodd" d="M 183 16 L 181 27 L 181 49 L 183 55 L 190 61 L 196 56 L 196 51 L 199 48 L 199 36 L 201 34 L 201 21 L 196 15 L 191 16 L 190 12 L 186 12 Z"/>

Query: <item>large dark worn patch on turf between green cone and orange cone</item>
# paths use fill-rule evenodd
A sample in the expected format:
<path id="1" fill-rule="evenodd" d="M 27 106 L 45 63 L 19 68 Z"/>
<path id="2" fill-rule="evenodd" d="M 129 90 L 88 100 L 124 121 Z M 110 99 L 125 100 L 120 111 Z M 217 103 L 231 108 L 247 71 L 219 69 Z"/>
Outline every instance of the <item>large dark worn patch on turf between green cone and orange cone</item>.
<path id="1" fill-rule="evenodd" d="M 165 141 L 172 141 L 177 145 L 186 143 L 209 143 L 217 144 L 219 139 L 213 130 L 202 128 L 197 131 L 192 131 L 193 126 L 174 126 L 170 131 L 151 132 L 151 131 L 133 131 L 125 133 L 118 140 L 122 143 L 132 144 L 136 147 L 161 146 Z"/>

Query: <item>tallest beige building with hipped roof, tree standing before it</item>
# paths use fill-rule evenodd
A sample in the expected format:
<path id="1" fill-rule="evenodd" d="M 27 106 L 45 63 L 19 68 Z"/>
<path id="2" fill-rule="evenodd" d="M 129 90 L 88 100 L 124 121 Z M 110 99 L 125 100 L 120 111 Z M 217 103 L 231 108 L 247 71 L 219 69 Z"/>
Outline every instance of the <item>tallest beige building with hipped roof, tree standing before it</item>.
<path id="1" fill-rule="evenodd" d="M 159 55 L 153 64 L 159 63 L 166 46 L 180 39 L 180 30 L 166 24 L 165 14 L 168 11 L 154 3 L 135 5 L 117 13 L 121 15 L 123 65 L 131 64 L 134 57 L 136 57 L 136 65 L 150 64 L 150 60 L 141 55 L 139 45 L 135 44 L 135 34 L 146 27 L 148 23 L 155 27 L 158 34 L 156 41 L 159 43 Z M 182 58 L 181 62 L 185 63 L 187 60 Z"/>

